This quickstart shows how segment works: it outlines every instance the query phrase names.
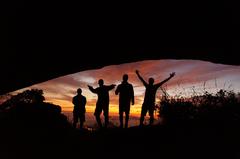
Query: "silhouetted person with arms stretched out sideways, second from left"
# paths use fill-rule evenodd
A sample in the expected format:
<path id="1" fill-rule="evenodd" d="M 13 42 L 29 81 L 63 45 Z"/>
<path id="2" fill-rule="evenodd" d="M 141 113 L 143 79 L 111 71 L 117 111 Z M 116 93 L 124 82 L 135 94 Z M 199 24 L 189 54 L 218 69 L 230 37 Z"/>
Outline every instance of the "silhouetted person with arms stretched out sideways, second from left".
<path id="1" fill-rule="evenodd" d="M 96 109 L 95 109 L 94 115 L 96 117 L 99 127 L 101 128 L 102 122 L 101 122 L 100 115 L 102 113 L 102 110 L 105 117 L 105 127 L 107 127 L 109 122 L 109 117 L 108 117 L 109 93 L 108 92 L 112 90 L 115 87 L 115 85 L 112 84 L 112 85 L 106 86 L 104 85 L 104 81 L 102 79 L 98 81 L 98 84 L 99 84 L 99 87 L 95 89 L 89 85 L 88 85 L 88 88 L 92 93 L 96 93 L 98 95 L 98 100 L 96 103 Z"/>

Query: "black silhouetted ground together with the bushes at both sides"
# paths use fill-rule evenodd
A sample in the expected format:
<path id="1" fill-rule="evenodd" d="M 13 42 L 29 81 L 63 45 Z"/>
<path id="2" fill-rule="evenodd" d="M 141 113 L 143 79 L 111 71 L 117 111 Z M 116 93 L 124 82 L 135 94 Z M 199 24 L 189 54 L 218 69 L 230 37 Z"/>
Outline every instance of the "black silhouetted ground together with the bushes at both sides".
<path id="1" fill-rule="evenodd" d="M 162 98 L 163 125 L 91 132 L 72 129 L 60 106 L 44 102 L 41 90 L 27 90 L 0 105 L 0 152 L 3 158 L 101 158 L 103 153 L 104 158 L 116 154 L 121 158 L 126 154 L 137 158 L 239 157 L 239 94 L 220 90 L 191 98 Z"/>

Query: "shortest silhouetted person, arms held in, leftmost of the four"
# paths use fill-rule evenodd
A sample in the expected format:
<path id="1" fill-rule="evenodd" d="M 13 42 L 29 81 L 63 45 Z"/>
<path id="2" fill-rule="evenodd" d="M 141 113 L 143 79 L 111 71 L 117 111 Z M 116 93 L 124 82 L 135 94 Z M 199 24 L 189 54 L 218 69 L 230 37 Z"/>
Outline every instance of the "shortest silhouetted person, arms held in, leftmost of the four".
<path id="1" fill-rule="evenodd" d="M 78 119 L 80 119 L 80 129 L 83 128 L 85 122 L 85 112 L 86 112 L 86 97 L 82 95 L 81 88 L 77 89 L 77 95 L 73 97 L 72 103 L 74 104 L 73 109 L 73 127 L 76 128 Z"/>

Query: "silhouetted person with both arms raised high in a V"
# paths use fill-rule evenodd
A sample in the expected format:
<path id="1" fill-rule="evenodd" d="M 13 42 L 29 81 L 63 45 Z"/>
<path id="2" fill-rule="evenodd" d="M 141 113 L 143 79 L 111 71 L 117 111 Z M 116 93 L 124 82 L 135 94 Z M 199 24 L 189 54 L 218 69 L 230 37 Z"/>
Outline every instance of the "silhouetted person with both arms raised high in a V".
<path id="1" fill-rule="evenodd" d="M 154 79 L 153 78 L 149 78 L 148 83 L 146 81 L 144 81 L 144 79 L 140 76 L 138 70 L 136 70 L 136 74 L 146 88 L 144 101 L 143 101 L 143 104 L 142 104 L 140 126 L 143 125 L 144 117 L 146 116 L 147 112 L 149 113 L 149 116 L 150 116 L 150 125 L 151 125 L 154 121 L 153 112 L 154 112 L 154 107 L 155 107 L 155 96 L 156 96 L 157 89 L 161 85 L 163 85 L 165 82 L 170 80 L 175 75 L 175 72 L 172 72 L 170 74 L 170 77 L 166 78 L 165 80 L 163 80 L 162 82 L 159 82 L 157 84 L 154 84 Z"/>

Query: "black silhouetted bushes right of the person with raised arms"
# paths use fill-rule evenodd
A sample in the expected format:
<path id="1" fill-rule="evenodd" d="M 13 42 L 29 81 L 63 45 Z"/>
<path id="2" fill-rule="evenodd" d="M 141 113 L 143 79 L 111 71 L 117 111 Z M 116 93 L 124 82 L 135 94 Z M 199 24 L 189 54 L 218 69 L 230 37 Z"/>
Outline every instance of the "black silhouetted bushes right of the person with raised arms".
<path id="1" fill-rule="evenodd" d="M 190 98 L 162 96 L 159 115 L 168 124 L 195 122 L 224 124 L 240 121 L 240 94 L 219 90 Z"/>

